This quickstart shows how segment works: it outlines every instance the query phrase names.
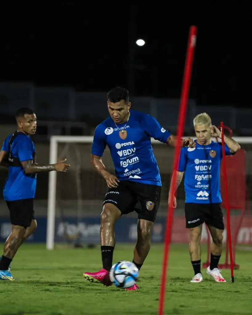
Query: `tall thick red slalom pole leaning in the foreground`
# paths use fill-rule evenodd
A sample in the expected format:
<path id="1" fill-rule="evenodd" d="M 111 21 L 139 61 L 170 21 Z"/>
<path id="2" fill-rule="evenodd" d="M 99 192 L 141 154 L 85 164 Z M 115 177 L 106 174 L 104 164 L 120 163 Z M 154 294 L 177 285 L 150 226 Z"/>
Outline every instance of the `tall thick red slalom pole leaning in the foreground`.
<path id="1" fill-rule="evenodd" d="M 196 45 L 196 34 L 197 34 L 197 27 L 191 26 L 189 30 L 189 37 L 188 37 L 188 44 L 187 44 L 187 51 L 186 51 L 186 62 L 185 62 L 184 77 L 183 77 L 182 90 L 181 90 L 180 109 L 179 109 L 179 117 L 178 117 L 178 125 L 177 125 L 177 142 L 176 142 L 174 160 L 173 160 L 173 172 L 177 170 L 180 147 L 181 147 L 180 139 L 184 133 L 186 108 L 187 108 L 188 95 L 189 95 L 189 89 L 190 89 L 190 83 L 191 83 L 193 55 L 194 55 L 194 49 Z M 176 180 L 173 181 L 172 186 L 171 186 L 172 196 L 175 195 L 175 182 Z M 168 263 L 168 253 L 169 253 L 169 246 L 170 246 L 170 240 L 171 240 L 173 211 L 174 211 L 173 207 L 170 207 L 168 205 L 166 227 L 165 227 L 164 249 L 163 249 L 163 265 L 162 265 L 162 270 L 161 270 L 161 285 L 160 285 L 158 315 L 163 315 L 166 276 L 167 276 L 167 263 Z"/>

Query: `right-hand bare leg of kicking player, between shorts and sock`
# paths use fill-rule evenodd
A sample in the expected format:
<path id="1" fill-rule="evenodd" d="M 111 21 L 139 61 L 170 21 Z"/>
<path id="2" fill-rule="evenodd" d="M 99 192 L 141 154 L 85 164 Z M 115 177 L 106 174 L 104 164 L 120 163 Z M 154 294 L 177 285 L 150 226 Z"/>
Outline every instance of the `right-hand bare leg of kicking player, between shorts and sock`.
<path id="1" fill-rule="evenodd" d="M 151 232 L 153 222 L 139 219 L 137 223 L 137 242 L 134 249 L 133 261 L 137 265 L 142 265 L 151 248 Z"/>

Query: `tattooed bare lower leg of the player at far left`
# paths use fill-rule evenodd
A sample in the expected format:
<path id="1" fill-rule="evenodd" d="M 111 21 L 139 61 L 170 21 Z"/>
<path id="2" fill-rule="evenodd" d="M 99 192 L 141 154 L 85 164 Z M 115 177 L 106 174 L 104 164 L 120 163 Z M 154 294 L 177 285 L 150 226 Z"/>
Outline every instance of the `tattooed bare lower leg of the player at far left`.
<path id="1" fill-rule="evenodd" d="M 9 238 L 6 240 L 3 248 L 3 255 L 10 259 L 13 259 L 18 248 L 22 243 L 22 239 L 25 235 L 26 229 L 23 226 L 13 225 L 12 232 Z"/>

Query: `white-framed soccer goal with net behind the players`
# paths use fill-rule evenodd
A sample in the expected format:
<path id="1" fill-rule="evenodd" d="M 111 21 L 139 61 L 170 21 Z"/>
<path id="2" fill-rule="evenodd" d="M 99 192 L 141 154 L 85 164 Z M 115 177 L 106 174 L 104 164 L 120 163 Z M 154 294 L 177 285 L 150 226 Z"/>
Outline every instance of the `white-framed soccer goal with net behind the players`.
<path id="1" fill-rule="evenodd" d="M 191 138 L 195 139 L 195 136 L 192 136 Z M 249 154 L 246 154 L 246 158 L 247 160 L 251 160 L 252 137 L 233 138 L 241 144 L 242 147 L 244 147 L 245 151 L 248 149 Z M 213 138 L 213 141 L 216 141 L 216 139 Z M 72 240 L 78 241 L 80 232 L 82 233 L 81 242 L 88 242 L 90 235 L 92 236 L 92 231 L 85 231 L 88 226 L 85 224 L 83 225 L 82 218 L 89 216 L 90 220 L 92 220 L 91 218 L 93 216 L 97 218 L 99 217 L 102 200 L 106 193 L 106 182 L 100 178 L 100 176 L 91 167 L 90 154 L 92 143 L 93 136 L 51 136 L 50 138 L 49 163 L 56 163 L 59 159 L 67 158 L 67 162 L 71 164 L 71 167 L 67 173 L 57 173 L 54 171 L 49 172 L 46 232 L 46 248 L 49 250 L 54 249 L 54 243 L 70 243 Z M 163 197 L 158 215 L 163 215 L 163 217 L 165 217 L 174 148 L 165 146 L 163 143 L 154 139 L 152 139 L 152 147 L 154 155 L 157 159 L 163 184 Z M 108 171 L 114 172 L 108 148 L 105 149 L 103 162 Z M 251 172 L 252 176 L 252 169 L 250 166 L 247 167 L 247 172 L 248 171 Z M 175 210 L 175 216 L 180 214 L 182 220 L 182 217 L 184 216 L 184 187 L 182 183 L 179 189 L 180 191 L 178 191 L 177 194 L 177 204 L 179 209 Z M 88 190 L 88 192 L 86 192 L 86 190 Z M 99 215 L 97 215 L 98 213 Z M 81 231 L 71 231 L 72 234 L 67 231 L 69 225 L 66 225 L 66 221 L 69 216 L 74 217 L 72 220 L 75 220 L 75 226 L 80 226 L 82 229 Z M 162 243 L 162 236 L 157 237 L 157 235 L 159 235 L 158 233 L 160 232 L 160 229 L 162 229 L 161 225 L 163 224 L 163 218 L 160 223 L 159 221 L 157 222 L 158 223 L 155 224 L 157 231 L 154 231 L 156 233 L 155 237 Z M 184 221 L 179 221 L 178 224 L 181 225 L 183 222 Z M 60 230 L 59 233 L 55 231 L 56 225 L 58 231 Z M 74 224 L 72 224 L 72 226 L 73 225 Z M 96 234 L 98 234 L 97 225 L 98 223 L 93 225 L 96 229 Z M 186 231 L 183 230 L 185 235 L 183 234 L 183 236 L 181 236 L 178 231 L 175 231 L 175 229 L 173 230 L 172 242 L 187 243 L 188 239 L 186 237 Z M 120 232 L 122 233 L 123 238 L 123 233 L 125 233 L 125 231 L 119 230 L 119 233 Z M 127 233 L 134 234 L 135 232 L 127 231 Z M 99 242 L 98 237 L 96 239 L 91 237 L 91 239 L 91 242 Z"/>

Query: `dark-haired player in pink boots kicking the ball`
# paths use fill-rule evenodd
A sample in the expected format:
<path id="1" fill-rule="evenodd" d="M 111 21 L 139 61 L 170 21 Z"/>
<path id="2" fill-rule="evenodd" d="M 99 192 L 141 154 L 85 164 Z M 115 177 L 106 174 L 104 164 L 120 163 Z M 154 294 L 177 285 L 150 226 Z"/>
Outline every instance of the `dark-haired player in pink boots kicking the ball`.
<path id="1" fill-rule="evenodd" d="M 133 262 L 141 268 L 150 250 L 151 231 L 161 197 L 161 179 L 157 161 L 152 152 L 151 138 L 176 144 L 176 136 L 160 126 L 155 118 L 130 109 L 129 92 L 116 87 L 107 95 L 110 117 L 95 129 L 91 163 L 107 182 L 101 214 L 100 242 L 103 268 L 85 272 L 91 282 L 111 285 L 109 271 L 115 247 L 114 224 L 121 215 L 138 214 L 137 243 Z M 193 148 L 192 139 L 179 139 L 181 146 Z M 116 175 L 110 174 L 101 157 L 109 147 Z M 139 289 L 137 285 L 129 290 Z"/>

